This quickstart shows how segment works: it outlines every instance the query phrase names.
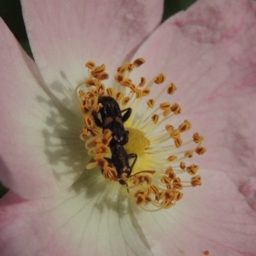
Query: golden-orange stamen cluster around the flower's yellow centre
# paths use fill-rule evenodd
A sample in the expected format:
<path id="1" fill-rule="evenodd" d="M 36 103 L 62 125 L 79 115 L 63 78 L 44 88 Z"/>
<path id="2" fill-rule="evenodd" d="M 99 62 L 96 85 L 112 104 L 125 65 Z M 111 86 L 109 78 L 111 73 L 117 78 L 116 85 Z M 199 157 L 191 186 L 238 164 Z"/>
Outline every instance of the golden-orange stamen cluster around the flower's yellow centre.
<path id="1" fill-rule="evenodd" d="M 177 121 L 182 114 L 182 107 L 175 102 L 177 85 L 166 83 L 165 73 L 149 79 L 135 75 L 144 63 L 143 58 L 125 62 L 109 75 L 105 64 L 88 61 L 87 75 L 76 86 L 75 96 L 83 114 L 80 138 L 92 158 L 86 168 L 98 167 L 108 182 L 119 183 L 137 207 L 154 212 L 174 207 L 188 189 L 201 186 L 200 166 L 192 159 L 207 149 L 199 132 L 190 133 L 189 120 L 180 122 L 179 117 Z M 101 109 L 107 107 L 98 102 L 100 96 L 111 96 L 122 116 L 102 120 Z M 132 110 L 131 116 L 123 119 L 127 109 Z M 114 121 L 119 128 L 113 127 Z M 110 128 L 99 127 L 101 122 Z M 125 145 L 113 144 L 113 128 L 124 129 Z M 127 160 L 125 166 L 115 165 L 117 159 Z"/>

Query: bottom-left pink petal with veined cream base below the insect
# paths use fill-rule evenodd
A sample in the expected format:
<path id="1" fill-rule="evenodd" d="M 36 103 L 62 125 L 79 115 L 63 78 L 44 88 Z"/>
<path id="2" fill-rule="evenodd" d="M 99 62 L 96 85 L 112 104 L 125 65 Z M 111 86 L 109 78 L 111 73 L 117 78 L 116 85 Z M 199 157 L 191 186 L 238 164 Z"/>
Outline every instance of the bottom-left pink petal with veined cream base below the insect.
<path id="1" fill-rule="evenodd" d="M 1 255 L 152 255 L 120 189 L 91 170 L 54 197 L 9 193 L 0 205 Z"/>

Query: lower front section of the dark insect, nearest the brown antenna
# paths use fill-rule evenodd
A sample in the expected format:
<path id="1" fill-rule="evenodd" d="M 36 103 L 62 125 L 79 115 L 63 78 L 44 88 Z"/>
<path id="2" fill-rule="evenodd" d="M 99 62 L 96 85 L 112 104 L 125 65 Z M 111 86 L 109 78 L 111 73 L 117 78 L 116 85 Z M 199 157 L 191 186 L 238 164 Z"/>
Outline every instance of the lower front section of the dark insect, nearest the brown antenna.
<path id="1" fill-rule="evenodd" d="M 120 144 L 115 144 L 113 147 L 110 148 L 110 151 L 112 153 L 112 157 L 105 157 L 105 160 L 107 160 L 111 166 L 115 167 L 116 171 L 118 172 L 119 183 L 124 185 L 125 182 L 121 178 L 122 174 L 126 173 L 127 177 L 130 177 L 132 168 L 137 161 L 137 154 L 128 154 L 125 148 Z M 130 166 L 129 159 L 131 158 L 134 158 L 134 160 Z"/>

